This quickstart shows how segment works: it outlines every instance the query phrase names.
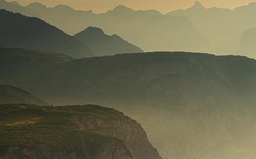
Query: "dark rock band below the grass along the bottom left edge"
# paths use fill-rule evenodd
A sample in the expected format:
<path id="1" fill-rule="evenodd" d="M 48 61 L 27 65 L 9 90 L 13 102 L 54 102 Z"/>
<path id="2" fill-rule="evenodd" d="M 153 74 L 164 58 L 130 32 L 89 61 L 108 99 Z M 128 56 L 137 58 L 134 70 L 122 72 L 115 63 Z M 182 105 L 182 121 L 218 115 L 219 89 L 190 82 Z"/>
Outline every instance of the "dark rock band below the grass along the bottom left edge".
<path id="1" fill-rule="evenodd" d="M 81 138 L 82 140 L 82 138 Z M 29 159 L 29 158 L 52 158 L 52 159 L 132 159 L 125 144 L 119 141 L 104 143 L 93 154 L 87 154 L 88 150 L 78 153 L 75 148 L 65 147 L 63 150 L 49 145 L 36 145 L 35 147 L 9 147 L 1 159 Z"/>

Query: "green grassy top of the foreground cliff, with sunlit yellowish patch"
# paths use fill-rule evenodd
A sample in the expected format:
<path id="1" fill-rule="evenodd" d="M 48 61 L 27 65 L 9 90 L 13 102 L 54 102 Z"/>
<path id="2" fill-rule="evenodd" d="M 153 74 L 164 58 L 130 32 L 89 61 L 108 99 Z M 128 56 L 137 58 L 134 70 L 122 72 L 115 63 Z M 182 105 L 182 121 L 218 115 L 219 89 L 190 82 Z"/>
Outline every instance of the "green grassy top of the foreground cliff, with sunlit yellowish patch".
<path id="1" fill-rule="evenodd" d="M 80 130 L 73 118 L 75 115 L 109 120 L 125 118 L 119 111 L 93 105 L 54 108 L 24 104 L 0 105 L 0 149 L 3 153 L 11 146 L 32 147 L 46 144 L 57 149 L 72 145 L 77 151 L 82 151 L 79 145 L 82 136 L 93 153 L 99 145 L 119 140 L 94 133 L 93 130 Z"/>

